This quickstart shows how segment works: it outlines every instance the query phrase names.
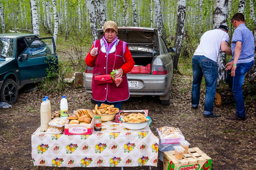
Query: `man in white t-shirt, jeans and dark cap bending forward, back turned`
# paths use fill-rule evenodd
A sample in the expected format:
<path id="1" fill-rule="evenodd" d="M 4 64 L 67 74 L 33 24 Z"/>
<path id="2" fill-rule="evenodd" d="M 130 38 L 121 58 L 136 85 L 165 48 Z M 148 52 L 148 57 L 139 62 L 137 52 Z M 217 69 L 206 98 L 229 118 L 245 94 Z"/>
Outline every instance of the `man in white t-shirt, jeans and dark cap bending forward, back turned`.
<path id="1" fill-rule="evenodd" d="M 200 86 L 202 78 L 205 78 L 205 106 L 204 117 L 220 117 L 213 113 L 213 102 L 217 87 L 218 78 L 218 53 L 221 50 L 232 55 L 231 48 L 228 47 L 229 36 L 228 27 L 220 25 L 218 29 L 205 32 L 200 38 L 200 44 L 197 47 L 193 59 L 193 84 L 192 84 L 192 102 L 193 109 L 197 109 L 200 99 Z"/>

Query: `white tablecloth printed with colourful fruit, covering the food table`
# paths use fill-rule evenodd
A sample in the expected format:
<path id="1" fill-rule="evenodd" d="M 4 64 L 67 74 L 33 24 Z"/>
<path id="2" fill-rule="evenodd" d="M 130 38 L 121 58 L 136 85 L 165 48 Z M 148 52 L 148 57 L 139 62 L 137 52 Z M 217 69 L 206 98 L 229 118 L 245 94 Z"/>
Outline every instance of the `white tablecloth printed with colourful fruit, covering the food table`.
<path id="1" fill-rule="evenodd" d="M 129 130 L 113 122 L 91 135 L 47 134 L 39 127 L 31 136 L 34 165 L 53 167 L 157 166 L 158 143 L 148 126 Z"/>

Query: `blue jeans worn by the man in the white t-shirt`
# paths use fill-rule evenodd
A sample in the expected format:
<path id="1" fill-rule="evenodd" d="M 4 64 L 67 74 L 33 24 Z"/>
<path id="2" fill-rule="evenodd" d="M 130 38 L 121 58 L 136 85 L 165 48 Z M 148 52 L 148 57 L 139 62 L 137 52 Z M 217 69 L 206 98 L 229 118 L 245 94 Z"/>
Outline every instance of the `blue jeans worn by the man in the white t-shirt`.
<path id="1" fill-rule="evenodd" d="M 213 102 L 217 87 L 218 65 L 215 61 L 208 59 L 203 55 L 194 55 L 192 59 L 193 84 L 191 90 L 191 105 L 196 107 L 199 105 L 200 86 L 202 78 L 205 78 L 205 107 L 204 114 L 213 113 Z"/>

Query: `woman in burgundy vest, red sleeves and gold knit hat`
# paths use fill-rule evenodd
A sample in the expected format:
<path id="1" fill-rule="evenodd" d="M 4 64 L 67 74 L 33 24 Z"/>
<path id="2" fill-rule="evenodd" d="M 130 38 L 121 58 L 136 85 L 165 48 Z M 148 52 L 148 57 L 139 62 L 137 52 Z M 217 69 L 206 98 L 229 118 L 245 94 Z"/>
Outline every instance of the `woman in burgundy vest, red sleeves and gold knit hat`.
<path id="1" fill-rule="evenodd" d="M 103 25 L 104 36 L 93 42 L 92 49 L 85 58 L 85 63 L 93 68 L 92 98 L 100 106 L 113 104 L 121 110 L 122 101 L 128 100 L 130 93 L 126 74 L 129 73 L 135 62 L 133 61 L 128 44 L 117 39 L 117 24 L 107 21 Z M 117 69 L 115 78 L 121 77 L 123 81 L 117 87 L 115 83 L 98 84 L 95 75 L 106 75 Z"/>

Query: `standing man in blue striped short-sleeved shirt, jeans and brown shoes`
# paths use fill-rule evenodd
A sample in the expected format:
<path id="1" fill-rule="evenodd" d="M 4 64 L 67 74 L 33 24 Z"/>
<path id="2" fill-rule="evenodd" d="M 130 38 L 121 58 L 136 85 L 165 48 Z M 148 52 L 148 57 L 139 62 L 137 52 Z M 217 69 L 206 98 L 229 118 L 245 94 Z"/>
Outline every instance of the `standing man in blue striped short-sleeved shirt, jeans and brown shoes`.
<path id="1" fill-rule="evenodd" d="M 232 89 L 236 100 L 236 115 L 227 117 L 230 120 L 245 120 L 242 85 L 245 74 L 254 64 L 254 37 L 244 23 L 243 14 L 234 14 L 232 24 L 236 29 L 231 44 L 233 61 L 226 64 L 226 70 L 231 69 L 231 76 L 233 76 Z"/>

